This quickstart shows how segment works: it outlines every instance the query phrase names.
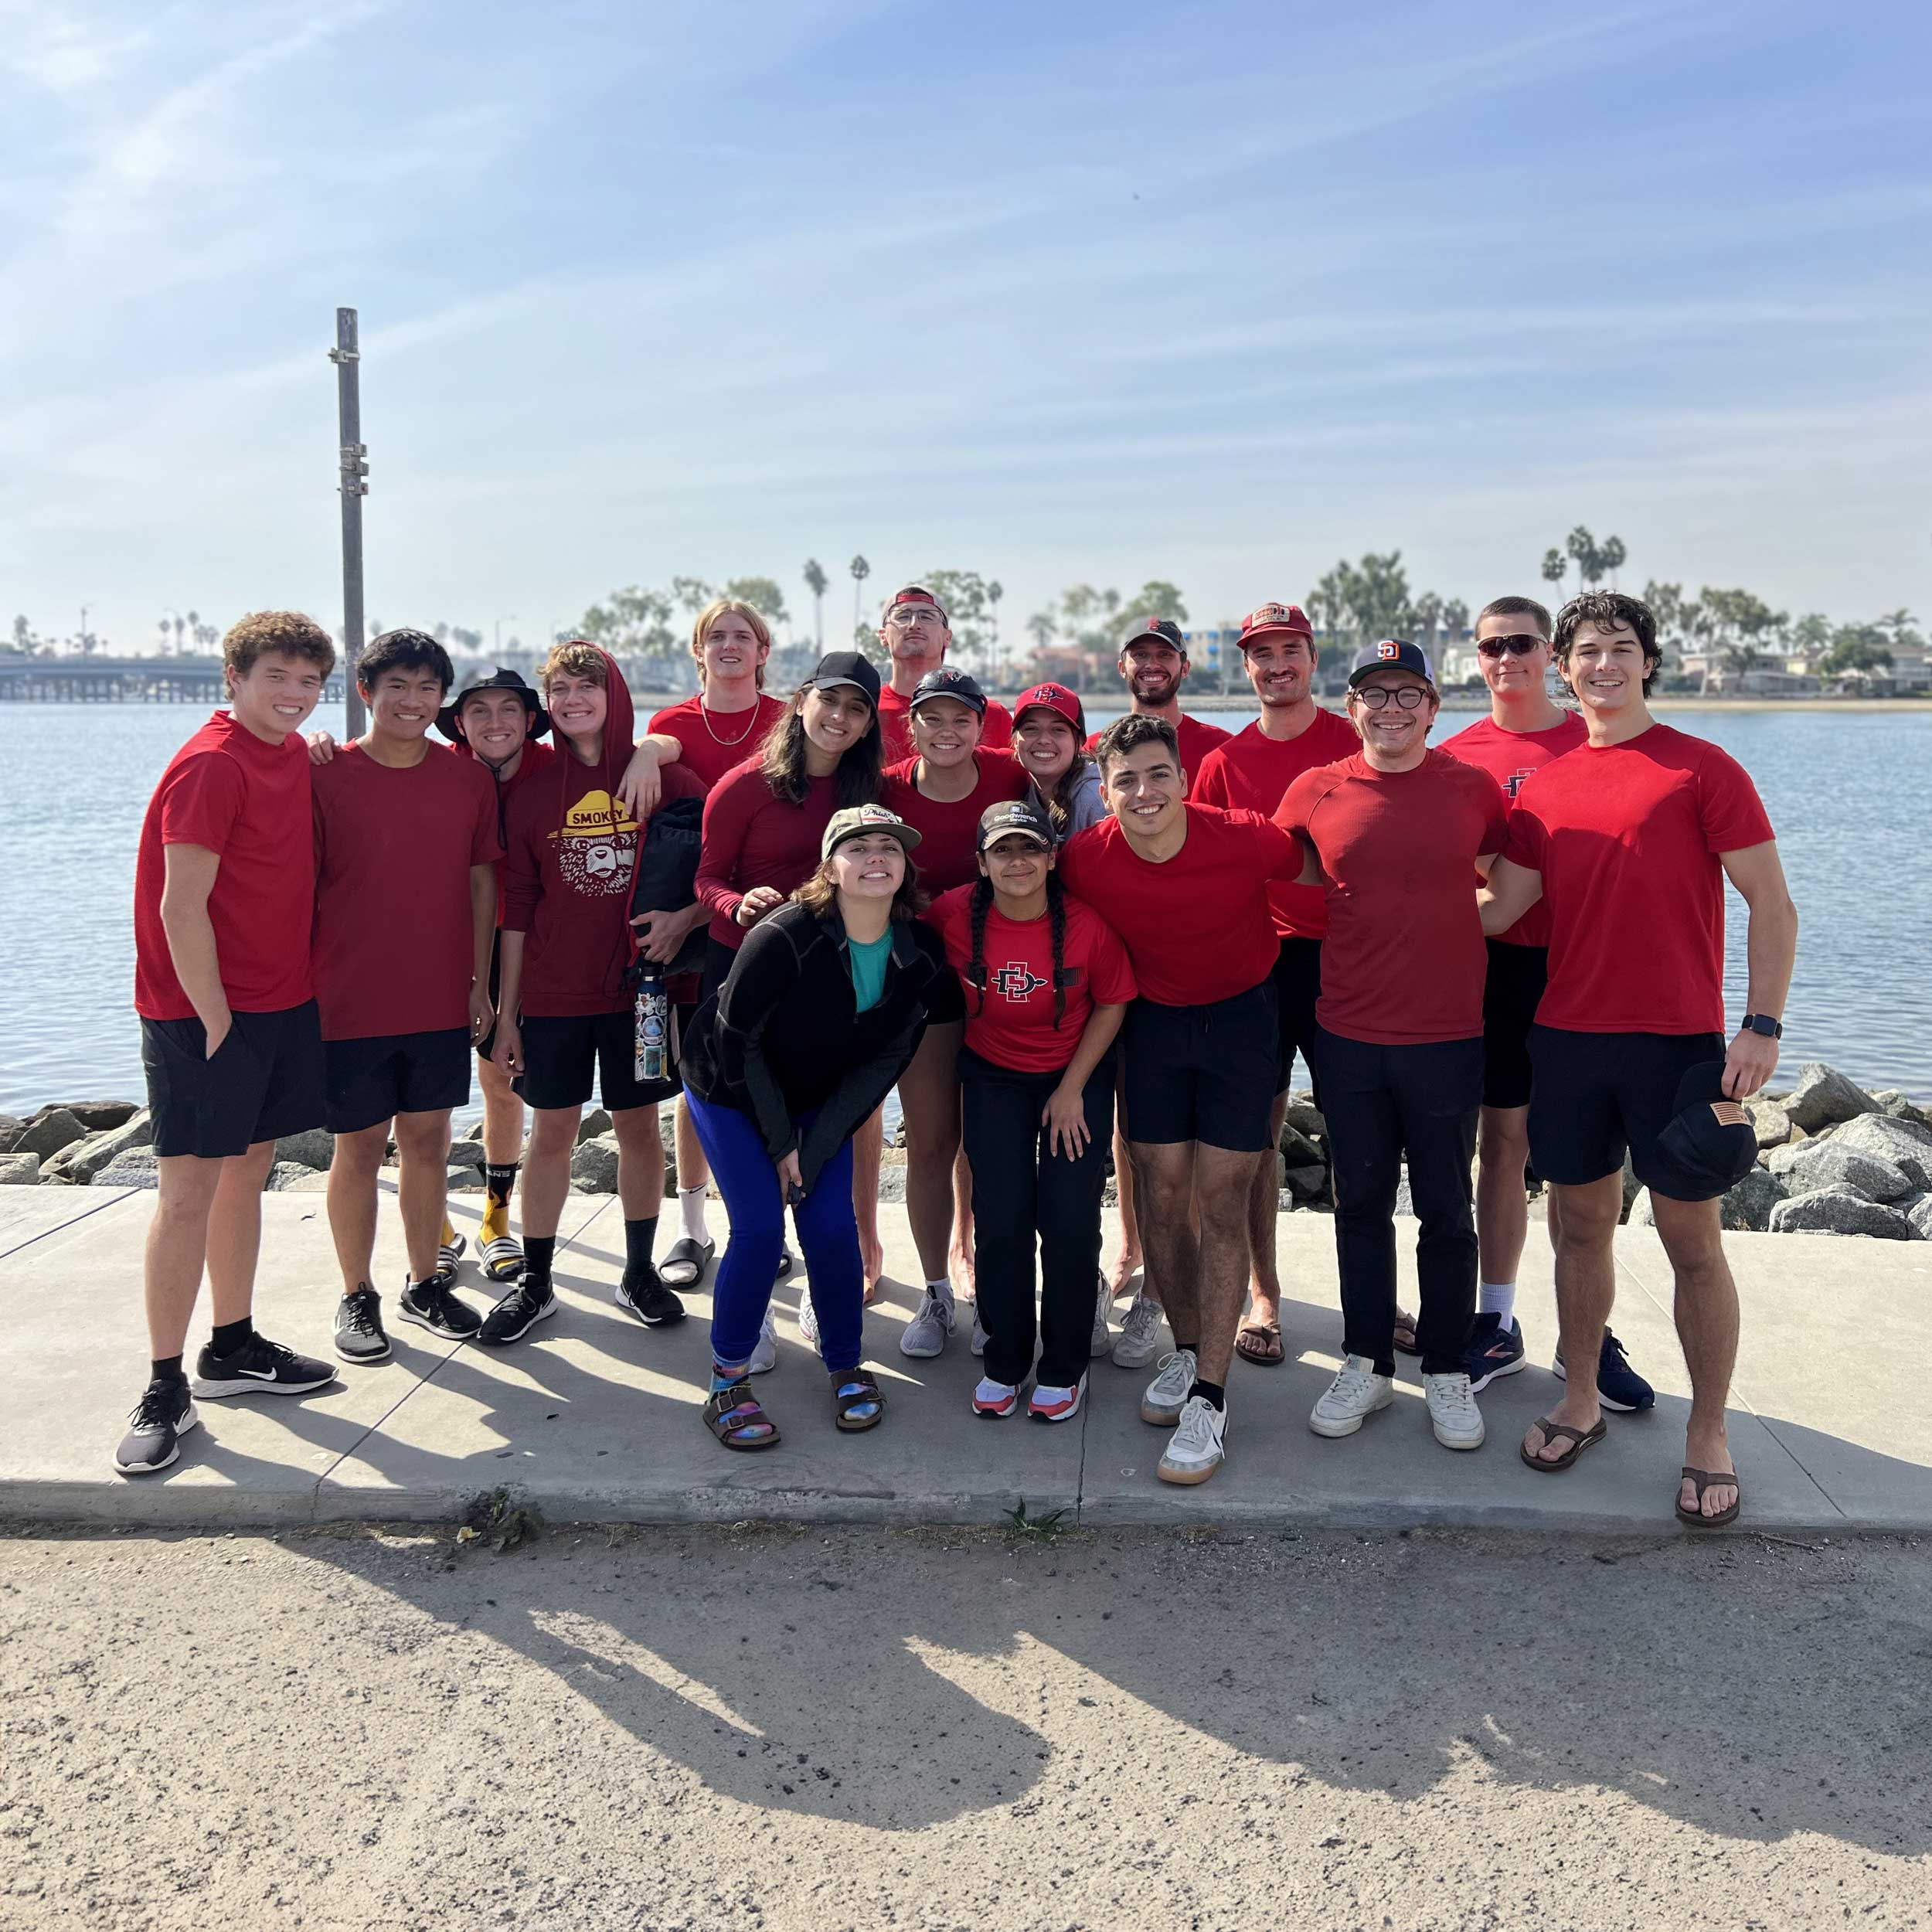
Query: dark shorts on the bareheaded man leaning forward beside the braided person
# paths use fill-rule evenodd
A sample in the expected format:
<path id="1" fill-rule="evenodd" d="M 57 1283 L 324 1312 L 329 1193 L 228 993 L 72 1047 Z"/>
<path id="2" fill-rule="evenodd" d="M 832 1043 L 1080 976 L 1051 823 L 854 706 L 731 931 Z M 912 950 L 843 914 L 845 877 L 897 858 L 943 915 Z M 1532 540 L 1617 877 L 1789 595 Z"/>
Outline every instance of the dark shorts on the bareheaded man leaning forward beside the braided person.
<path id="1" fill-rule="evenodd" d="M 1121 1037 L 1128 1140 L 1200 1140 L 1235 1153 L 1273 1146 L 1281 1041 L 1271 978 L 1206 1007 L 1136 999 Z"/>

